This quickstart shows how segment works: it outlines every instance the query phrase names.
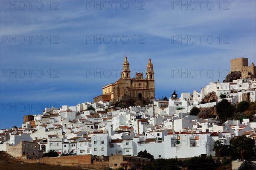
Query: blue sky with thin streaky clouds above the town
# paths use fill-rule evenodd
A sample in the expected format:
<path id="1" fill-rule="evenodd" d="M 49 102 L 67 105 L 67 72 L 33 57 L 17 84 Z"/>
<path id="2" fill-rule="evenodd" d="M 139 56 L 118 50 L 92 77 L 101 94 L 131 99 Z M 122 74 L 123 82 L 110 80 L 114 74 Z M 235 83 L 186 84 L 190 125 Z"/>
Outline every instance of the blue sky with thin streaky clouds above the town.
<path id="1" fill-rule="evenodd" d="M 46 107 L 92 101 L 119 79 L 125 54 L 131 77 L 152 59 L 156 98 L 223 81 L 232 58 L 256 62 L 254 0 L 0 5 L 1 129 Z"/>

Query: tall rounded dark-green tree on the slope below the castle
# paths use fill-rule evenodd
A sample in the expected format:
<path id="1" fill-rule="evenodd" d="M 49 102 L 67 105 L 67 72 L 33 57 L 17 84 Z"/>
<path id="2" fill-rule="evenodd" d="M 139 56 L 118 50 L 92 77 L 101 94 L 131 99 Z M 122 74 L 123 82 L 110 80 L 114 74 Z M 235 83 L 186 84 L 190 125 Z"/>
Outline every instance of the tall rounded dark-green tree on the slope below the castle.
<path id="1" fill-rule="evenodd" d="M 227 99 L 222 99 L 217 105 L 218 117 L 221 121 L 226 121 L 227 118 L 233 116 L 234 108 L 233 105 L 227 101 Z"/>

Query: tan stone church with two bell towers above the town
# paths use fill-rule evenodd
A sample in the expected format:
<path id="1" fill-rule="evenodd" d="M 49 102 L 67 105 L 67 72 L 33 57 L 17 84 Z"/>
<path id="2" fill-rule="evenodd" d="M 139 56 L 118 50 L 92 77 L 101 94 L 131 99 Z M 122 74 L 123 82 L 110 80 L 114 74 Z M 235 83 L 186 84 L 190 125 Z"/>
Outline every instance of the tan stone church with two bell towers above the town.
<path id="1" fill-rule="evenodd" d="M 150 99 L 155 99 L 154 69 L 151 59 L 148 59 L 146 77 L 143 73 L 136 73 L 135 78 L 131 78 L 130 64 L 125 55 L 121 78 L 115 83 L 111 83 L 102 88 L 102 95 L 94 97 L 94 102 L 110 101 L 119 102 L 129 99 L 140 99 L 149 103 Z"/>

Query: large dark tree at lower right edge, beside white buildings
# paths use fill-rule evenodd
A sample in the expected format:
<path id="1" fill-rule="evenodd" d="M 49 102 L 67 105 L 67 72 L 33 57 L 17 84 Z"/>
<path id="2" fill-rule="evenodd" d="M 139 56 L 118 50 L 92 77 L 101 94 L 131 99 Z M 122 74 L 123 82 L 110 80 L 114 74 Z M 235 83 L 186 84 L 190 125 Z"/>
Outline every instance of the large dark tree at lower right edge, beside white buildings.
<path id="1" fill-rule="evenodd" d="M 233 159 L 253 159 L 256 157 L 255 141 L 246 136 L 236 136 L 230 140 Z"/>

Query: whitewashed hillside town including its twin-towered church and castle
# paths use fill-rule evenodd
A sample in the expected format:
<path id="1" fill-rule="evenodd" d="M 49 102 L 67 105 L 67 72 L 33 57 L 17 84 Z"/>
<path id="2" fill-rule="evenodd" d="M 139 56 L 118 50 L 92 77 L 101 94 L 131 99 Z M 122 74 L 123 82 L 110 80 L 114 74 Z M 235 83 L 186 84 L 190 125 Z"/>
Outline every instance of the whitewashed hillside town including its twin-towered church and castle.
<path id="1" fill-rule="evenodd" d="M 239 119 L 221 119 L 216 111 L 223 100 L 234 108 L 242 101 L 256 102 L 254 64 L 248 66 L 248 59 L 238 58 L 231 59 L 230 65 L 230 75 L 241 72 L 239 79 L 209 82 L 192 94 L 174 91 L 166 99 L 155 99 L 151 59 L 146 77 L 137 73 L 131 79 L 125 56 L 121 78 L 104 86 L 94 102 L 45 108 L 41 114 L 24 116 L 21 127 L 0 130 L 0 151 L 31 159 L 55 150 L 61 157 L 90 155 L 102 161 L 119 155 L 131 160 L 144 150 L 155 159 L 215 156 L 216 141 L 229 145 L 236 136 L 256 140 L 255 110 Z M 129 106 L 129 100 L 140 105 Z M 194 108 L 199 109 L 197 114 L 192 114 Z M 110 163 L 112 168 L 119 166 Z"/>

